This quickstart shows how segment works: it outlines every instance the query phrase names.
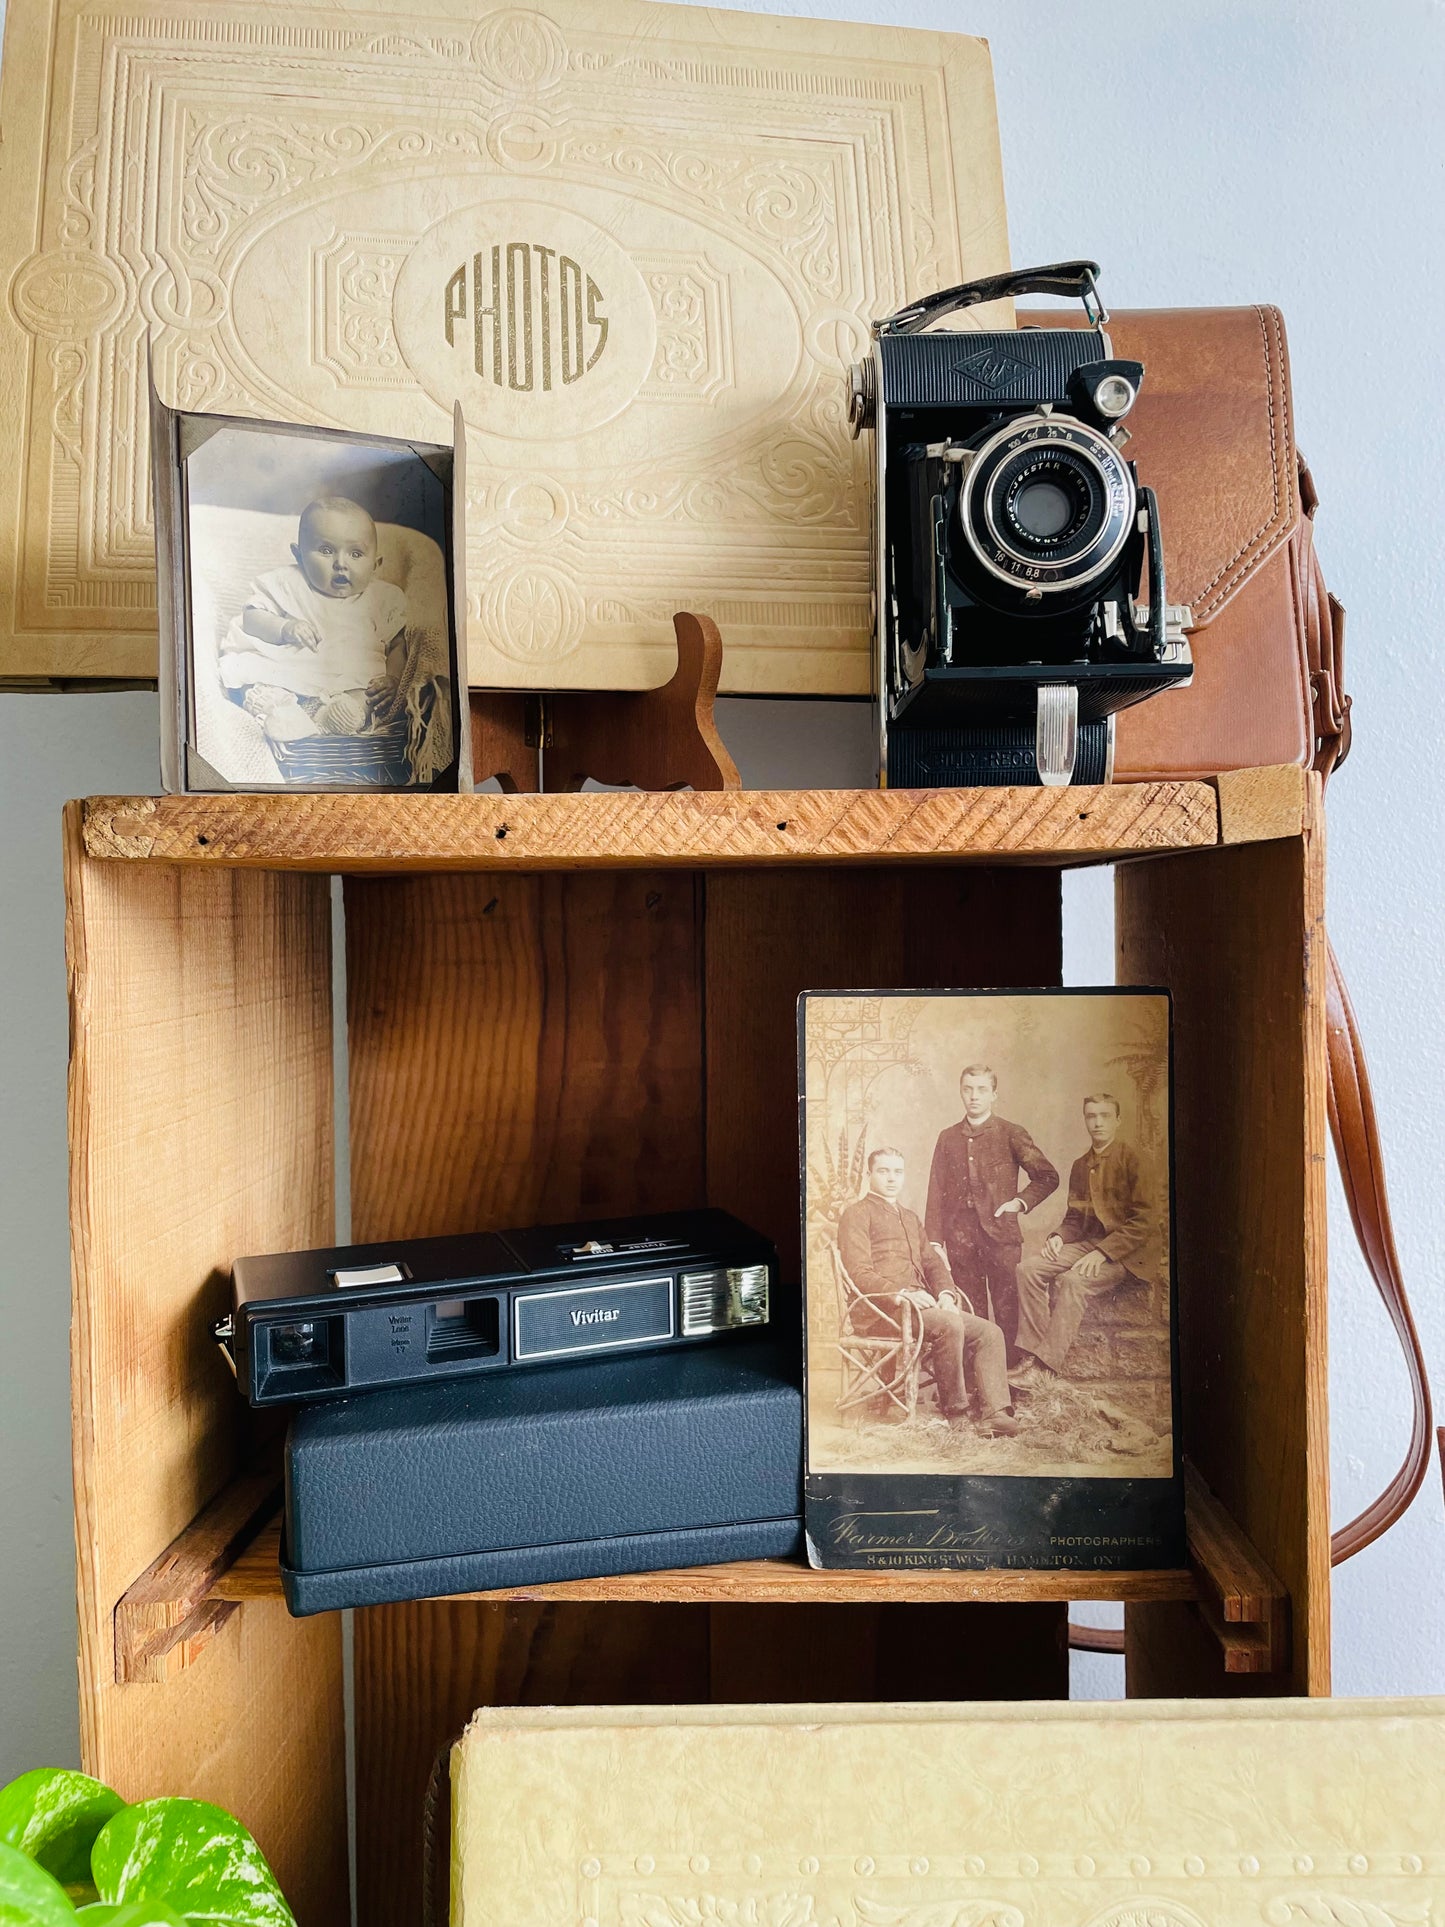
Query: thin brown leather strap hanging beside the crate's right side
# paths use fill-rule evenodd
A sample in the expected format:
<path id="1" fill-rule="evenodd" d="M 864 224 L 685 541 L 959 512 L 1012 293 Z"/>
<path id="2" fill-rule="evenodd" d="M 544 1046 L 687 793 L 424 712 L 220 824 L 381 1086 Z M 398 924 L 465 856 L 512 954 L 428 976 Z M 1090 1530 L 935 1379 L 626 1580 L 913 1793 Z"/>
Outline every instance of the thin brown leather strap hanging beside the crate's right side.
<path id="1" fill-rule="evenodd" d="M 1341 1526 L 1329 1542 L 1331 1565 L 1354 1557 L 1372 1545 L 1381 1532 L 1389 1532 L 1395 1520 L 1414 1499 L 1420 1482 L 1430 1470 L 1430 1382 L 1426 1378 L 1426 1359 L 1420 1349 L 1420 1333 L 1414 1328 L 1410 1301 L 1405 1293 L 1401 1258 L 1395 1249 L 1395 1227 L 1389 1216 L 1389 1197 L 1385 1193 L 1385 1166 L 1379 1154 L 1379 1129 L 1376 1125 L 1376 1104 L 1370 1091 L 1370 1071 L 1364 1062 L 1360 1029 L 1354 1021 L 1345 977 L 1339 969 L 1335 946 L 1326 946 L 1326 1023 L 1329 1033 L 1329 1135 L 1335 1141 L 1339 1175 L 1345 1181 L 1345 1199 L 1351 1208 L 1354 1235 L 1360 1241 L 1364 1262 L 1376 1281 L 1376 1291 L 1383 1299 L 1395 1335 L 1405 1353 L 1410 1374 L 1410 1399 L 1414 1422 L 1405 1463 L 1374 1505 L 1366 1505 L 1358 1518 Z"/>

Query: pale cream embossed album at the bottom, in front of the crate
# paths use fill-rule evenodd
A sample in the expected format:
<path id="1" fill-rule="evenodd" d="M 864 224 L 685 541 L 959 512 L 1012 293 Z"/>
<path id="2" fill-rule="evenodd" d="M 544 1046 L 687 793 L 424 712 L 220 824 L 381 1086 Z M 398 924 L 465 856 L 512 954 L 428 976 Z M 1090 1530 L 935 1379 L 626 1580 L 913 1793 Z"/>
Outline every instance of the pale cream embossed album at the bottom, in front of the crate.
<path id="1" fill-rule="evenodd" d="M 929 1653 L 919 1644 L 919 1682 Z M 1406 1927 L 1445 1702 L 487 1707 L 453 1927 Z"/>

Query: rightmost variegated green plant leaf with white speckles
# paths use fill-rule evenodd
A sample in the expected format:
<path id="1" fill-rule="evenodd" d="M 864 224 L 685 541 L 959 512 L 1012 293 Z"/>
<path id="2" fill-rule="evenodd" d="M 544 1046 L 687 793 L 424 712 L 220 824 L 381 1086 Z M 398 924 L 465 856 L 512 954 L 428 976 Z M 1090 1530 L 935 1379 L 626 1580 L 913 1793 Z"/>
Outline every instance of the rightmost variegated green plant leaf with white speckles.
<path id="1" fill-rule="evenodd" d="M 204 1800 L 143 1800 L 91 1848 L 102 1900 L 164 1900 L 189 1921 L 295 1927 L 276 1875 L 239 1819 Z"/>

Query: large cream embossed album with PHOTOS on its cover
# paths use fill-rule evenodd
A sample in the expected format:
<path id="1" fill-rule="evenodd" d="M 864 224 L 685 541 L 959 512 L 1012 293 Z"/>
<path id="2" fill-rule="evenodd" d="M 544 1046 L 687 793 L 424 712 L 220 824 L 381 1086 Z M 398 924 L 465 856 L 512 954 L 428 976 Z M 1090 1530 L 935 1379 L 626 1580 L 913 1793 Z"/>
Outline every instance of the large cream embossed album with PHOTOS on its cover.
<path id="1" fill-rule="evenodd" d="M 6 15 L 2 674 L 156 674 L 150 345 L 177 409 L 449 443 L 460 403 L 478 684 L 667 682 L 696 609 L 724 690 L 867 694 L 846 374 L 871 318 L 1008 266 L 985 40 L 647 0 Z"/>

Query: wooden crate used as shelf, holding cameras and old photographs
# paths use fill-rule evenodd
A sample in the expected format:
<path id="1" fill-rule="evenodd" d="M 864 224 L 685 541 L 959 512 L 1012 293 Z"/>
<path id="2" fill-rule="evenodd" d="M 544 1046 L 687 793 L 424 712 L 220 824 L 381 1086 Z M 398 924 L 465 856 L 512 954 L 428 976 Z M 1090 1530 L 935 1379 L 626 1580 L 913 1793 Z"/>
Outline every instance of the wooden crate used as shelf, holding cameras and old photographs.
<path id="1" fill-rule="evenodd" d="M 341 1621 L 285 1611 L 206 1330 L 237 1253 L 333 1243 L 339 1083 L 358 1241 L 707 1201 L 796 1274 L 798 992 L 1060 983 L 1060 873 L 1104 861 L 1117 981 L 1175 1004 L 1183 1443 L 1216 1499 L 1189 1571 L 767 1563 L 358 1611 L 360 1927 L 414 1927 L 428 1775 L 482 1703 L 1058 1696 L 1065 1601 L 1121 1594 L 1131 1694 L 1327 1692 L 1316 779 L 92 798 L 66 821 L 87 1771 L 237 1811 L 301 1927 L 347 1921 Z"/>

